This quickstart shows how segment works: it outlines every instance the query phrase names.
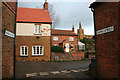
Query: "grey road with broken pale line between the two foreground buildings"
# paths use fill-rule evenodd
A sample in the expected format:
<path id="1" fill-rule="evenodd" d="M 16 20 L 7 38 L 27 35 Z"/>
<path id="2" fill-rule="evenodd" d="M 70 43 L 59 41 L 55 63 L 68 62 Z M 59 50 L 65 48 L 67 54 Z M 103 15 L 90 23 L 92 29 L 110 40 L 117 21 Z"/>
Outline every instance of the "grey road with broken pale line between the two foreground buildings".
<path id="1" fill-rule="evenodd" d="M 90 78 L 90 60 L 73 62 L 17 62 L 16 77 Z"/>

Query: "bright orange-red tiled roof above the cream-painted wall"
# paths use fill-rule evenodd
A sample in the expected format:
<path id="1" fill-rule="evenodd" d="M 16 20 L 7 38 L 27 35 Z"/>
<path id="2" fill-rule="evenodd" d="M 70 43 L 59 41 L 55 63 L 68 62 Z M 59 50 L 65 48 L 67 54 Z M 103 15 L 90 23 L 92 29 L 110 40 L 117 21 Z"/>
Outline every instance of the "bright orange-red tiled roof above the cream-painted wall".
<path id="1" fill-rule="evenodd" d="M 17 8 L 17 22 L 52 23 L 49 12 L 36 8 Z"/>

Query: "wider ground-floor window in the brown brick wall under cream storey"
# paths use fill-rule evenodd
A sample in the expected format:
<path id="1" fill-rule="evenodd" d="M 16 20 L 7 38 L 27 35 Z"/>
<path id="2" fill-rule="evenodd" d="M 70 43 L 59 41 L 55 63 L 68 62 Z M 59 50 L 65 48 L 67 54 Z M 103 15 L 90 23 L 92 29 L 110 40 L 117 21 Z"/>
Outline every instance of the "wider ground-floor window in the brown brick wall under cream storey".
<path id="1" fill-rule="evenodd" d="M 43 55 L 43 46 L 32 46 L 32 55 Z"/>

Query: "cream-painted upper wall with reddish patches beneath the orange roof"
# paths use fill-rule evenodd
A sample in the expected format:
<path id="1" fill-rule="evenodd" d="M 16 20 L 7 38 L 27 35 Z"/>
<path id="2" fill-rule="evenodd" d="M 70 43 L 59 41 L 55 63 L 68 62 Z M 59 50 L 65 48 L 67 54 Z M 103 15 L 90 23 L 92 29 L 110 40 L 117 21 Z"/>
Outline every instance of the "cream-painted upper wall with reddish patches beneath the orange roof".
<path id="1" fill-rule="evenodd" d="M 50 24 L 41 24 L 41 30 L 43 32 L 41 32 L 41 34 L 38 35 L 38 34 L 35 34 L 34 23 L 17 23 L 16 36 L 51 36 Z"/>

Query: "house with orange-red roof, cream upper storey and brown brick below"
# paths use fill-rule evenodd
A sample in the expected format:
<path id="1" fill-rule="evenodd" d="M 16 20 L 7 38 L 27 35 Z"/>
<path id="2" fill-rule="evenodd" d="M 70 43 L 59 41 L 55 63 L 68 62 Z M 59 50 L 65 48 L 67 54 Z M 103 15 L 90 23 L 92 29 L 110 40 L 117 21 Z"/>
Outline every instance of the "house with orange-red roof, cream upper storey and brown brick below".
<path id="1" fill-rule="evenodd" d="M 47 2 L 43 9 L 18 7 L 17 61 L 50 61 L 51 24 Z"/>

